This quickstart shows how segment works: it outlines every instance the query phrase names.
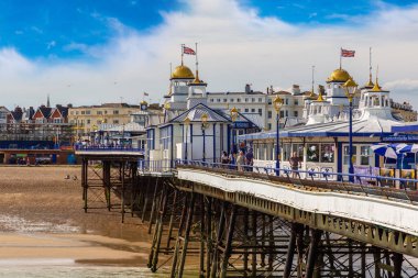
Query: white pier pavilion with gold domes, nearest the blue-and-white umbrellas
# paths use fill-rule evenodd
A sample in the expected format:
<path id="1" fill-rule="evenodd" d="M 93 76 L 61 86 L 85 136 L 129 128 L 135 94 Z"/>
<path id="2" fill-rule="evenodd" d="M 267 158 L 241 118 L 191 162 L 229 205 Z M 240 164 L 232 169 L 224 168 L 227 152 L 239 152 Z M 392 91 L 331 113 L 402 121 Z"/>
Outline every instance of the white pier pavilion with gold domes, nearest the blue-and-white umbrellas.
<path id="1" fill-rule="evenodd" d="M 349 99 L 343 94 L 343 84 L 350 75 L 345 70 L 333 71 L 328 79 L 328 94 L 318 93 L 316 100 L 308 100 L 308 122 L 279 131 L 279 159 L 283 168 L 289 168 L 294 152 L 301 162 L 302 170 L 348 173 L 349 170 L 349 111 L 337 108 Z M 383 166 L 382 157 L 370 146 L 394 134 L 392 129 L 405 123 L 393 116 L 389 105 L 389 91 L 383 90 L 376 78 L 356 91 L 359 108 L 353 110 L 353 165 L 354 167 Z M 239 136 L 254 149 L 254 165 L 275 166 L 276 132 L 261 132 Z"/>

